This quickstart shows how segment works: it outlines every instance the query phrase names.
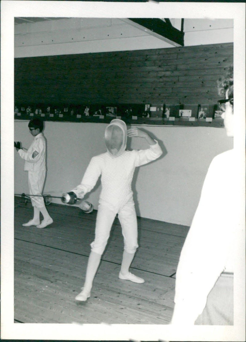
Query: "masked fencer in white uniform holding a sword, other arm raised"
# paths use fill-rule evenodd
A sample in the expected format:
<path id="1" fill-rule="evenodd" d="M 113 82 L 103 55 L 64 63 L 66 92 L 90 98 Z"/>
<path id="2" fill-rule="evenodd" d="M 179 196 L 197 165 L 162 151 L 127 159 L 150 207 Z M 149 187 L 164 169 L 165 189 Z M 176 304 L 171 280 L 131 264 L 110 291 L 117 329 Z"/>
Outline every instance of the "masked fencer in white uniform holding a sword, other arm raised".
<path id="1" fill-rule="evenodd" d="M 146 139 L 150 147 L 146 150 L 126 150 L 127 136 Z M 138 229 L 131 183 L 136 167 L 147 164 L 161 156 L 158 142 L 146 132 L 131 128 L 127 131 L 124 121 L 114 119 L 106 127 L 107 152 L 93 157 L 80 185 L 68 195 L 83 198 L 95 186 L 101 175 L 102 190 L 96 219 L 95 240 L 91 243 L 86 279 L 82 292 L 75 299 L 85 301 L 90 297 L 92 282 L 106 247 L 111 227 L 118 213 L 124 237 L 124 252 L 119 273 L 120 279 L 143 283 L 144 279 L 129 272 L 130 264 L 138 248 Z M 64 200 L 66 202 L 66 200 Z"/>

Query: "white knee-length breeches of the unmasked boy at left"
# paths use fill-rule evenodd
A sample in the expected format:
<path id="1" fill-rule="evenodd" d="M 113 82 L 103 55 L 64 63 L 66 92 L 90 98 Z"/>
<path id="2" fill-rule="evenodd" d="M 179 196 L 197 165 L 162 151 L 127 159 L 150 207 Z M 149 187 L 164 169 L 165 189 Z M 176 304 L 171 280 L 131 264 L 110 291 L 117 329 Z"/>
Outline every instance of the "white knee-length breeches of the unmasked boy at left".
<path id="1" fill-rule="evenodd" d="M 45 181 L 45 170 L 28 171 L 28 187 L 30 195 L 42 196 L 42 191 Z M 32 197 L 31 202 L 33 207 L 42 208 L 45 206 L 43 197 Z"/>

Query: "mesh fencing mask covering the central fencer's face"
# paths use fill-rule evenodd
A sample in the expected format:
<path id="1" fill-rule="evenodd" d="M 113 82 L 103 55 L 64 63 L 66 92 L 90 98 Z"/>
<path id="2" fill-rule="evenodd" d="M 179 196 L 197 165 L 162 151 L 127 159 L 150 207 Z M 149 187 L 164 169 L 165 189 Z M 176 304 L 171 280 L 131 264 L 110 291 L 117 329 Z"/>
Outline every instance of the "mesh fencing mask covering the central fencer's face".
<path id="1" fill-rule="evenodd" d="M 113 157 L 120 156 L 126 149 L 127 127 L 126 123 L 119 119 L 114 119 L 105 129 L 105 144 L 108 152 Z"/>

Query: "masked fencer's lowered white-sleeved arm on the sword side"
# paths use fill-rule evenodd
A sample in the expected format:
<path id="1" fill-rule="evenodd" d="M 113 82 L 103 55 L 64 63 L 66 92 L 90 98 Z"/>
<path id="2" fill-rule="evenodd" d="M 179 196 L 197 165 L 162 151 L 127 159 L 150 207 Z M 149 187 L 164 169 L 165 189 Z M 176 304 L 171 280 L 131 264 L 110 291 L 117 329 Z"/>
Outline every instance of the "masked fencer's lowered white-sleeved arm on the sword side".
<path id="1" fill-rule="evenodd" d="M 92 190 L 96 185 L 101 172 L 100 158 L 92 157 L 81 184 L 76 186 L 72 192 L 74 192 L 78 198 L 83 198 L 85 194 L 90 192 L 90 190 Z"/>

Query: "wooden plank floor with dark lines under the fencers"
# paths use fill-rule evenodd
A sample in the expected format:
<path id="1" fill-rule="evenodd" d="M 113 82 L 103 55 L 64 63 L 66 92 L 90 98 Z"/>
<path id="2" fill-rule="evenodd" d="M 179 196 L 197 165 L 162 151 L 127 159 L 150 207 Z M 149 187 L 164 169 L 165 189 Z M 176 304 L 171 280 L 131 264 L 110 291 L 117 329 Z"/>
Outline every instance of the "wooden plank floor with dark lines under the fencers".
<path id="1" fill-rule="evenodd" d="M 173 312 L 175 272 L 188 227 L 138 218 L 139 249 L 132 273 L 144 284 L 118 279 L 123 252 L 116 218 L 96 274 L 91 297 L 76 302 L 83 286 L 96 211 L 52 203 L 54 223 L 23 227 L 30 202 L 15 197 L 14 319 L 22 323 L 168 324 Z"/>

